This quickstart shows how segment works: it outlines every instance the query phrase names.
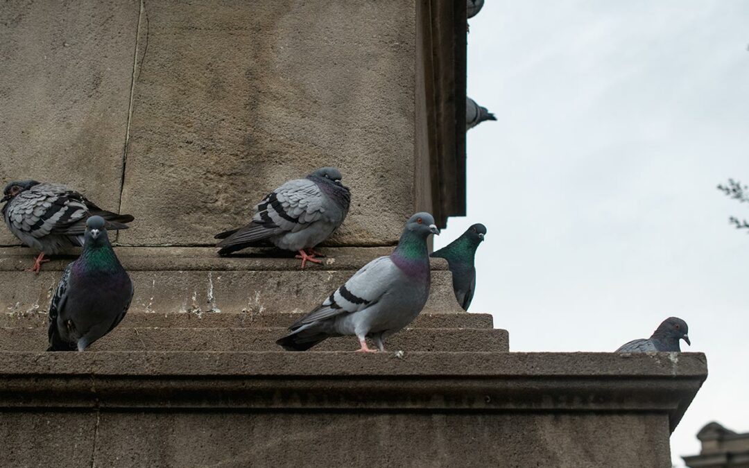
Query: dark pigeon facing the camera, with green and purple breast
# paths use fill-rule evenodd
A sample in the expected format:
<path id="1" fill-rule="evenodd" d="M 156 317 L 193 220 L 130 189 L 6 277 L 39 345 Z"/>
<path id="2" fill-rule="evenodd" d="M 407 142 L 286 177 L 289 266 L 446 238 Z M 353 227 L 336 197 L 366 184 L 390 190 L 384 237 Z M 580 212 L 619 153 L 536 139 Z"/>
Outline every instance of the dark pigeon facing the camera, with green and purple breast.
<path id="1" fill-rule="evenodd" d="M 133 282 L 106 235 L 106 221 L 86 221 L 81 256 L 62 274 L 49 304 L 48 351 L 85 350 L 111 332 L 133 299 Z"/>

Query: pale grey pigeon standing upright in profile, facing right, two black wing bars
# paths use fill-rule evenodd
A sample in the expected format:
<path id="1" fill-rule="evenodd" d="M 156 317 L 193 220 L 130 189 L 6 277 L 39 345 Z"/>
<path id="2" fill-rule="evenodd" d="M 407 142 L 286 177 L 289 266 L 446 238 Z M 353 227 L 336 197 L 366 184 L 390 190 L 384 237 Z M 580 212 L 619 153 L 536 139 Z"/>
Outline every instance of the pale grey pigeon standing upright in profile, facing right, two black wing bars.
<path id="1" fill-rule="evenodd" d="M 276 344 L 303 351 L 331 336 L 356 335 L 360 351 L 376 352 L 367 337 L 384 351 L 385 338 L 411 323 L 429 297 L 429 234 L 440 234 L 431 214 L 411 216 L 392 254 L 364 265 Z"/>

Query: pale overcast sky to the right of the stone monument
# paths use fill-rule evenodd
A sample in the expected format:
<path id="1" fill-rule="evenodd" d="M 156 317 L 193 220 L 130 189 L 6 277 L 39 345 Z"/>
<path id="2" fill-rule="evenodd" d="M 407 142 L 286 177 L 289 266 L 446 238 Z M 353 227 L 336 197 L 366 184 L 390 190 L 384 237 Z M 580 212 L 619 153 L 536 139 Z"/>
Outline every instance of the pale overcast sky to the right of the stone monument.
<path id="1" fill-rule="evenodd" d="M 709 378 L 671 437 L 696 455 L 712 420 L 749 431 L 749 1 L 486 0 L 470 19 L 471 312 L 515 351 L 615 350 L 666 317 Z M 682 349 L 686 345 L 682 343 Z"/>

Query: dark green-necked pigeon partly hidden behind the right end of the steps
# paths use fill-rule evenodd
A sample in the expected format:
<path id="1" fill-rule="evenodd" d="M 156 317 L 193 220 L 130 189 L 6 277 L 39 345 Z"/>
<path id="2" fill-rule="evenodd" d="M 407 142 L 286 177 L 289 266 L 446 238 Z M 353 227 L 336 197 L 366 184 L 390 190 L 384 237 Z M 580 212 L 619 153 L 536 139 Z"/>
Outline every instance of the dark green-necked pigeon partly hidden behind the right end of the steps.
<path id="1" fill-rule="evenodd" d="M 431 254 L 431 257 L 444 258 L 447 261 L 452 272 L 452 291 L 455 291 L 455 299 L 465 311 L 470 307 L 473 292 L 476 291 L 476 268 L 473 267 L 473 258 L 485 235 L 485 225 L 472 225 L 461 237 Z"/>

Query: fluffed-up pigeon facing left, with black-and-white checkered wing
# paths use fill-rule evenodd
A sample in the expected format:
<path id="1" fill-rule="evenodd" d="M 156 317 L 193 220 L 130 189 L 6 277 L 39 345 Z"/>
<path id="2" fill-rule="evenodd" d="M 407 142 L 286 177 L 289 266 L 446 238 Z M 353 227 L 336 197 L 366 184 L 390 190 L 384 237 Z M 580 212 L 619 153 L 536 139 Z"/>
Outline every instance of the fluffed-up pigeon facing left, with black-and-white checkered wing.
<path id="1" fill-rule="evenodd" d="M 28 270 L 34 273 L 39 273 L 41 265 L 49 261 L 44 255 L 58 254 L 67 246 L 83 245 L 89 216 L 101 216 L 110 230 L 127 229 L 125 223 L 133 221 L 133 216 L 102 210 L 79 192 L 57 183 L 10 182 L 3 195 L 2 215 L 10 232 L 40 252 Z"/>

